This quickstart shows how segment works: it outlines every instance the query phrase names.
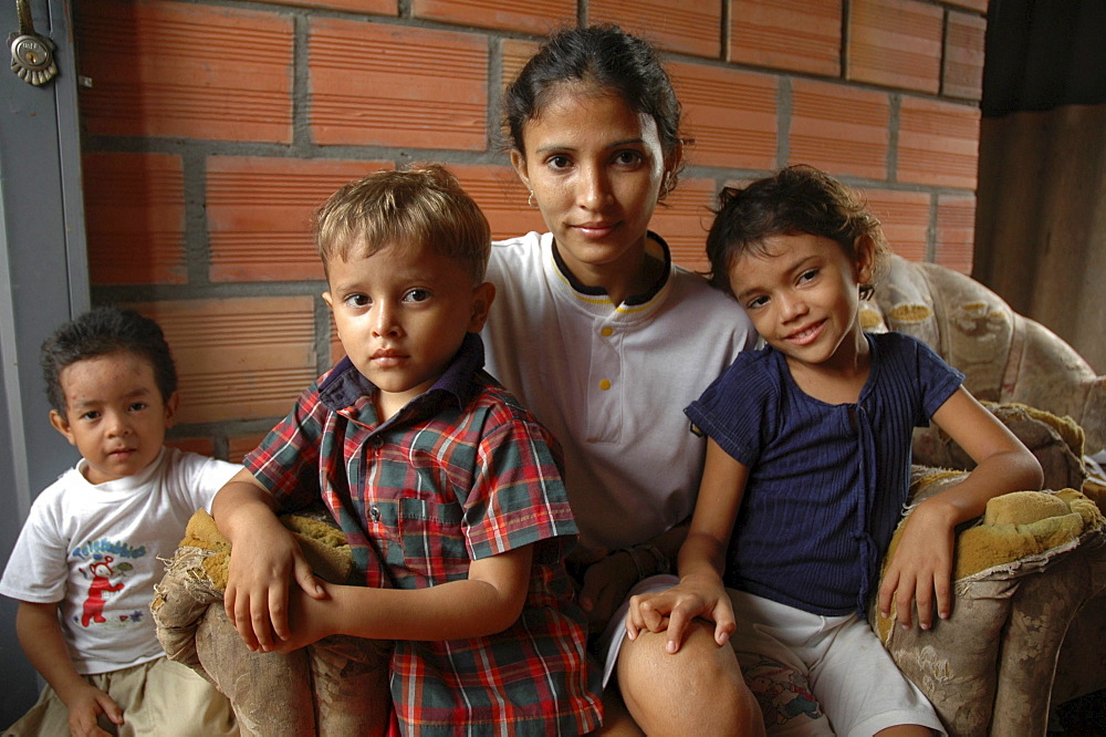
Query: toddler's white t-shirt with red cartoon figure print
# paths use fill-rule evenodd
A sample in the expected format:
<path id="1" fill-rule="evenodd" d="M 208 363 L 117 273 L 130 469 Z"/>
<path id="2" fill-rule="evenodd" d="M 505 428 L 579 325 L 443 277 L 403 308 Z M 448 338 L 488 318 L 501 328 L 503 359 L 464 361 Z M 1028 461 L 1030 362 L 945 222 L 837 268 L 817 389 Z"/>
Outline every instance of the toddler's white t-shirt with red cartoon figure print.
<path id="1" fill-rule="evenodd" d="M 163 448 L 134 476 L 90 484 L 83 458 L 46 487 L 15 541 L 0 593 L 59 603 L 77 673 L 118 671 L 164 653 L 149 602 L 189 517 L 241 466 Z"/>

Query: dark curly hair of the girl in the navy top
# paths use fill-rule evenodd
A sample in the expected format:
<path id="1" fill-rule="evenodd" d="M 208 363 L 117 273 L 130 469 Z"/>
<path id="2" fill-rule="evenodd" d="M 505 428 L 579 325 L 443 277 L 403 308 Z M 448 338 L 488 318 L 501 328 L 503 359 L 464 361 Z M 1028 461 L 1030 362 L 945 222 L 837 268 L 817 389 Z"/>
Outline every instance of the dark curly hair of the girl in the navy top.
<path id="1" fill-rule="evenodd" d="M 868 236 L 875 249 L 873 280 L 887 260 L 879 220 L 844 184 L 813 166 L 795 165 L 748 187 L 723 187 L 707 233 L 710 283 L 731 293 L 730 269 L 747 253 L 766 252 L 773 236 L 808 233 L 836 241 L 851 259 L 854 243 Z M 872 284 L 862 284 L 870 295 Z M 862 295 L 865 295 L 862 294 Z"/>

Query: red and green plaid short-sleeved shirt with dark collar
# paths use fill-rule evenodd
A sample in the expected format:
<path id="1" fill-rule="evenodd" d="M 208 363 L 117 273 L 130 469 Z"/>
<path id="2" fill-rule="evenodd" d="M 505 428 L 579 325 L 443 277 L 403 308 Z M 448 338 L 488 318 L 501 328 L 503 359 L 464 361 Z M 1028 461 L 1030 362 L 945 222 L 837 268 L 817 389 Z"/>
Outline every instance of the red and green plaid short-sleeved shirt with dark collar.
<path id="1" fill-rule="evenodd" d="M 533 544 L 514 625 L 394 643 L 393 703 L 405 733 L 583 734 L 599 724 L 599 684 L 564 570 L 576 525 L 555 442 L 482 366 L 470 333 L 438 382 L 382 424 L 375 387 L 344 360 L 244 464 L 282 511 L 321 498 L 369 587 L 466 579 L 471 560 Z"/>

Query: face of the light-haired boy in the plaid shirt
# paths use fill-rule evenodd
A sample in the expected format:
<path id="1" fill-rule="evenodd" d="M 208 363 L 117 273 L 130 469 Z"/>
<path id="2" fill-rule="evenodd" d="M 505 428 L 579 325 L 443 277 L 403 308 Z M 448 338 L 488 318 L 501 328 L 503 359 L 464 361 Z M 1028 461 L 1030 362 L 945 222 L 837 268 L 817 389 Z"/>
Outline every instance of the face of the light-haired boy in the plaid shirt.
<path id="1" fill-rule="evenodd" d="M 430 388 L 466 332 L 478 332 L 494 288 L 473 287 L 457 260 L 428 248 L 388 245 L 368 257 L 327 264 L 346 355 L 380 390 L 385 415 Z"/>

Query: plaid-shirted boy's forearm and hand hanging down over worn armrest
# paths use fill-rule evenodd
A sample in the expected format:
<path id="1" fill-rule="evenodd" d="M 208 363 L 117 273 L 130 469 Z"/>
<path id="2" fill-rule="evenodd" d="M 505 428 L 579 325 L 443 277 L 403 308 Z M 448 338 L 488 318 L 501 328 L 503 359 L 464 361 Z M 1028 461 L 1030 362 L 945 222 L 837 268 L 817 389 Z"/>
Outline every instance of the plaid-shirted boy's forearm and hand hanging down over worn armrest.
<path id="1" fill-rule="evenodd" d="M 211 502 L 216 526 L 231 543 L 223 604 L 250 650 L 268 652 L 286 641 L 289 579 L 310 596 L 324 595 L 300 544 L 276 519 L 269 490 L 247 469 Z M 275 639 L 274 639 L 275 637 Z"/>

